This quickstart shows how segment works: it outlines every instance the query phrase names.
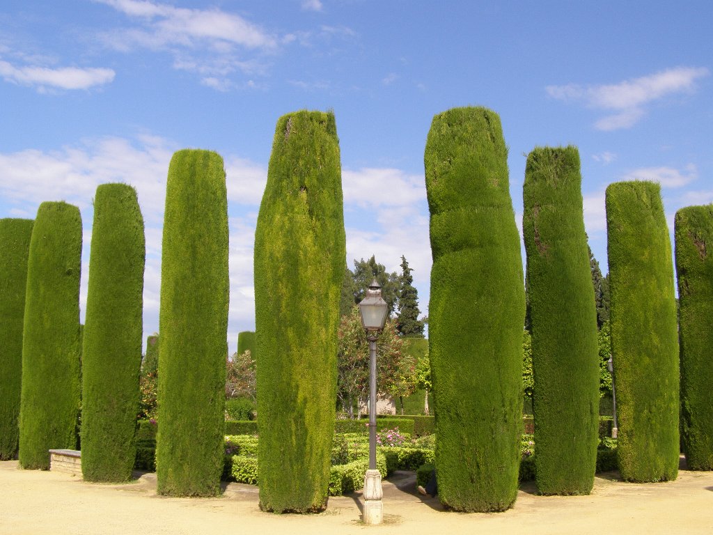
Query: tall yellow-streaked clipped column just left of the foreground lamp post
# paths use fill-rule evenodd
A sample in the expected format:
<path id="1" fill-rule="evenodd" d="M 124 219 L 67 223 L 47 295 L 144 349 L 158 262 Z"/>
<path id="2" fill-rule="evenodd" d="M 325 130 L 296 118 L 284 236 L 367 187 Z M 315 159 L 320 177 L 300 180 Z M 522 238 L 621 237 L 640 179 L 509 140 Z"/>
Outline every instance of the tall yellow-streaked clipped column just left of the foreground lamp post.
<path id="1" fill-rule="evenodd" d="M 255 230 L 258 481 L 266 511 L 327 506 L 346 245 L 333 113 L 277 121 Z"/>

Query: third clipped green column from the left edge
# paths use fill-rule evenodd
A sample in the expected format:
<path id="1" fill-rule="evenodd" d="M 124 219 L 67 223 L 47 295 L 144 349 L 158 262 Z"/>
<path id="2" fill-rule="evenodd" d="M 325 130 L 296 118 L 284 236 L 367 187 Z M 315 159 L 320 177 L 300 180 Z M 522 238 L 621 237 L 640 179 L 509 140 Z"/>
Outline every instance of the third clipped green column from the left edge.
<path id="1" fill-rule="evenodd" d="M 103 184 L 94 197 L 82 352 L 82 474 L 128 481 L 136 457 L 143 337 L 143 217 L 136 191 Z"/>

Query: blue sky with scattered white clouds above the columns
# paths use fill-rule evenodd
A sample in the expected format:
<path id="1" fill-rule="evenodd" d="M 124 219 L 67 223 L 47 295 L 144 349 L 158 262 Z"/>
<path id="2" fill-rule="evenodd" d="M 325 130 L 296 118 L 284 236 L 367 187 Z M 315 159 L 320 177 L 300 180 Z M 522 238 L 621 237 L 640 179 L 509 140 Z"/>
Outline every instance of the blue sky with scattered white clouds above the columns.
<path id="1" fill-rule="evenodd" d="M 503 0 L 4 0 L 0 218 L 81 209 L 81 321 L 92 198 L 133 185 L 145 220 L 144 339 L 158 332 L 168 163 L 225 161 L 228 349 L 255 328 L 252 244 L 275 124 L 334 110 L 347 263 L 413 268 L 428 312 L 424 148 L 434 115 L 496 111 L 521 228 L 527 154 L 578 146 L 585 226 L 603 271 L 604 192 L 657 180 L 667 221 L 713 202 L 713 4 Z M 524 258 L 524 248 L 523 248 Z"/>

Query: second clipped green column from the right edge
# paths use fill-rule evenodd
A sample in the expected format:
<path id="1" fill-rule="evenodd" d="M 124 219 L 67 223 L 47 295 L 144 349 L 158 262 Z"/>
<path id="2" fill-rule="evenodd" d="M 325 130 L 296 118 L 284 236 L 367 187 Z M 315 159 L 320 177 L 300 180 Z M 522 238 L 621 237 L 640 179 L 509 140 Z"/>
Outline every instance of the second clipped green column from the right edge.
<path id="1" fill-rule="evenodd" d="M 660 186 L 610 184 L 606 208 L 619 469 L 625 481 L 676 479 L 678 335 Z"/>

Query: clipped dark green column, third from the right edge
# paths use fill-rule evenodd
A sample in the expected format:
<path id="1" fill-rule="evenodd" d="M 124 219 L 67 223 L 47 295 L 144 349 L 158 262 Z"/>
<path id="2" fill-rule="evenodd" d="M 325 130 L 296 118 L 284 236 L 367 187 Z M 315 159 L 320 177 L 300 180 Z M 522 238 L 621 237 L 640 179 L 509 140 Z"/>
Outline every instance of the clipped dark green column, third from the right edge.
<path id="1" fill-rule="evenodd" d="M 523 235 L 540 494 L 589 494 L 597 465 L 597 309 L 581 184 L 576 147 L 535 148 L 529 154 Z"/>

